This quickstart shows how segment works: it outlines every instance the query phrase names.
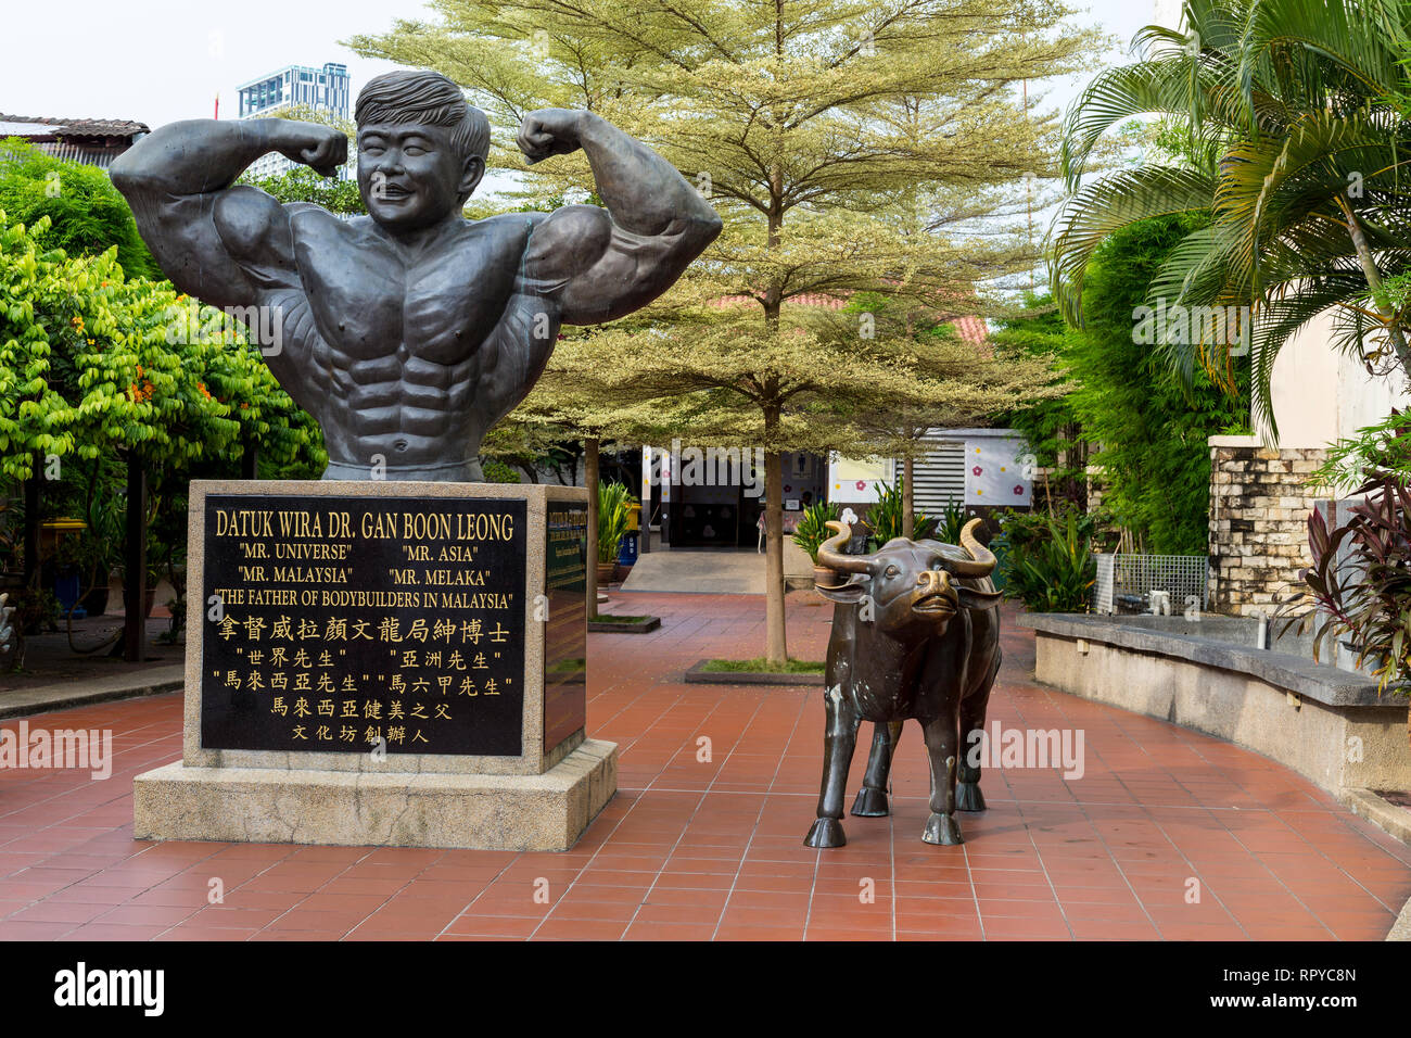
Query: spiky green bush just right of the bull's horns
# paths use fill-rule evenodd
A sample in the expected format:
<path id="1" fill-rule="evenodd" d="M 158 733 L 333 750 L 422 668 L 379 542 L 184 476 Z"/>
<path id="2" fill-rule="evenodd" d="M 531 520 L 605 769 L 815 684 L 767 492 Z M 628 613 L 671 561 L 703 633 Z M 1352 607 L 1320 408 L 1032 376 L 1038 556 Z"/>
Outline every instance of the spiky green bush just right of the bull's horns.
<path id="1" fill-rule="evenodd" d="M 1077 510 L 1062 515 L 1010 511 L 1000 520 L 996 585 L 1033 613 L 1082 613 L 1098 579 L 1092 532 L 1098 520 Z M 998 538 L 996 538 L 998 539 Z"/>

